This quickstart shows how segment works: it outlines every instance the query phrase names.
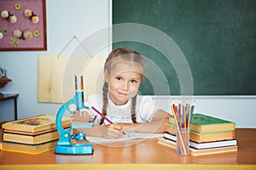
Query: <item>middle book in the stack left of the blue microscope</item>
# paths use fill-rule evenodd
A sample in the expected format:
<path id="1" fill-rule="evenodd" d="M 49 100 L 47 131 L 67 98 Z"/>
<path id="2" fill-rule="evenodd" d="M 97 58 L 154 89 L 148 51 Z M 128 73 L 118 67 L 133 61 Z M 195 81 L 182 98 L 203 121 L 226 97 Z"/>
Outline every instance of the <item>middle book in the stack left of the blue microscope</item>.
<path id="1" fill-rule="evenodd" d="M 59 138 L 60 134 L 57 130 L 35 135 L 3 132 L 3 141 L 20 144 L 42 144 Z"/>

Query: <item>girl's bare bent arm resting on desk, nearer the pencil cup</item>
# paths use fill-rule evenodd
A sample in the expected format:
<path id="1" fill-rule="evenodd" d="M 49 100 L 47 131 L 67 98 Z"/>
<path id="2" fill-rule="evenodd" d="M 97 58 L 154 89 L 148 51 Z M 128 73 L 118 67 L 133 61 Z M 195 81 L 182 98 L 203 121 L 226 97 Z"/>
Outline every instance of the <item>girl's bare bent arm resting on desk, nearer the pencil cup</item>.
<path id="1" fill-rule="evenodd" d="M 125 131 L 131 133 L 163 133 L 166 131 L 169 114 L 166 111 L 155 112 L 152 122 L 119 123 Z"/>

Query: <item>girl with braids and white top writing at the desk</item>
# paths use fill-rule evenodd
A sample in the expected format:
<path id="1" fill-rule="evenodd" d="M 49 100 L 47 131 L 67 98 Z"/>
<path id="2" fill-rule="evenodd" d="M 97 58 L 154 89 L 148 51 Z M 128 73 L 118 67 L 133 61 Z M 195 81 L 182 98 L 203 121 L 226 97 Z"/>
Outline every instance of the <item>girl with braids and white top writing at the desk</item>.
<path id="1" fill-rule="evenodd" d="M 90 95 L 88 103 L 113 123 L 91 111 L 94 127 L 84 129 L 87 135 L 113 139 L 124 135 L 124 131 L 162 133 L 166 130 L 167 113 L 157 108 L 149 96 L 137 94 L 144 71 L 145 61 L 136 51 L 116 48 L 108 55 L 102 94 Z M 79 116 L 74 118 L 81 121 Z"/>

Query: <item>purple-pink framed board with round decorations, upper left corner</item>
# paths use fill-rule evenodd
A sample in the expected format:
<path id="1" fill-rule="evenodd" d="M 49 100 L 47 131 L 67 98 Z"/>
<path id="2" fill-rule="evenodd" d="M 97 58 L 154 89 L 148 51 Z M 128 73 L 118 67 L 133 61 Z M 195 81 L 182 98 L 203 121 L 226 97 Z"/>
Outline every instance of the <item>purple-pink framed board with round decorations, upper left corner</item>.
<path id="1" fill-rule="evenodd" d="M 47 49 L 45 0 L 1 0 L 0 13 L 0 51 Z"/>

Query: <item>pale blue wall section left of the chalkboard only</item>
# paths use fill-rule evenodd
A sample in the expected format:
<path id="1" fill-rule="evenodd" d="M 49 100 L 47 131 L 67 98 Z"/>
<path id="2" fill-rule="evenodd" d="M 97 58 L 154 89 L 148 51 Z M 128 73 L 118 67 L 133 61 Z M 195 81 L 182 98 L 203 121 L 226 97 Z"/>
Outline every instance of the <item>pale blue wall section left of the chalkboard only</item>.
<path id="1" fill-rule="evenodd" d="M 0 92 L 20 94 L 18 118 L 55 115 L 60 108 L 59 104 L 38 103 L 38 54 L 60 54 L 73 36 L 82 41 L 95 31 L 108 27 L 109 14 L 108 0 L 46 0 L 47 51 L 0 52 L 0 65 L 12 79 L 0 88 Z M 72 54 L 77 45 L 77 41 L 71 42 L 62 54 Z M 108 52 L 102 52 L 102 55 L 107 56 Z M 0 122 L 14 119 L 13 111 L 9 109 L 11 105 L 10 101 L 0 103 Z"/>

